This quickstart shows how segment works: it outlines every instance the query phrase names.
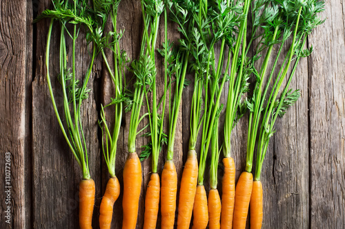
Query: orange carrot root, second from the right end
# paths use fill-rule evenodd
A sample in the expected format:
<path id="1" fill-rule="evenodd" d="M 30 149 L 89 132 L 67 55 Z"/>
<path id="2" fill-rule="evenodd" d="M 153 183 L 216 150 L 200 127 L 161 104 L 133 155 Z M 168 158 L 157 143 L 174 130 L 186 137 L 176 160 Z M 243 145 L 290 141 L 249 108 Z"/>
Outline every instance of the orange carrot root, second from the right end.
<path id="1" fill-rule="evenodd" d="M 233 218 L 234 229 L 246 228 L 246 221 L 248 215 L 250 195 L 253 188 L 253 174 L 243 172 L 239 176 L 239 180 L 236 186 L 235 195 L 235 210 Z"/>

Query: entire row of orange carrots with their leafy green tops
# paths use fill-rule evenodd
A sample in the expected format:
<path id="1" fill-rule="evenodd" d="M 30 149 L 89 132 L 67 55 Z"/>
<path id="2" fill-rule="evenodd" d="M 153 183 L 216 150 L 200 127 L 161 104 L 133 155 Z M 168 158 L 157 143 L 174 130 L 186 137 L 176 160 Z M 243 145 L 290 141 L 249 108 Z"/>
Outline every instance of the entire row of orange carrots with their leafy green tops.
<path id="1" fill-rule="evenodd" d="M 48 88 L 62 133 L 83 173 L 79 184 L 80 228 L 92 228 L 95 202 L 95 182 L 90 177 L 87 140 L 80 111 L 82 100 L 87 99 L 90 92 L 88 79 L 97 55 L 102 56 L 115 88 L 113 98 L 107 105 L 101 105 L 99 115 L 99 127 L 103 133 L 101 150 L 110 175 L 99 208 L 100 228 L 110 228 L 113 206 L 120 195 L 115 159 L 124 112 L 130 112 L 130 127 L 128 157 L 124 164 L 122 228 L 137 226 L 142 182 L 140 161 L 149 156 L 152 159 L 152 173 L 146 190 L 144 228 L 158 227 L 159 204 L 161 228 L 174 228 L 177 195 L 177 228 L 190 228 L 191 225 L 193 228 L 246 228 L 249 206 L 250 228 L 262 228 L 263 189 L 260 175 L 268 142 L 275 132 L 273 127 L 277 117 L 282 117 L 300 96 L 299 90 L 292 91 L 288 87 L 299 59 L 311 54 L 312 48 L 304 48 L 306 38 L 313 28 L 324 22 L 317 17 L 324 10 L 324 2 L 141 0 L 144 20 L 141 50 L 137 60 L 132 61 L 129 67 L 126 52 L 120 48 L 124 31 L 117 31 L 120 0 L 52 2 L 54 9 L 43 11 L 36 21 L 50 19 L 46 46 Z M 159 28 L 161 17 L 164 17 L 164 28 Z M 181 39 L 175 44 L 167 39 L 170 32 L 168 19 L 177 23 L 181 34 Z M 55 21 L 60 30 L 59 74 L 56 79 L 61 84 L 62 113 L 66 122 L 60 118 L 61 111 L 57 108 L 50 80 L 50 40 Z M 107 23 L 112 25 L 110 31 L 106 30 Z M 161 49 L 156 47 L 160 30 L 164 30 Z M 75 69 L 79 32 L 84 33 L 82 38 L 90 48 L 90 65 L 86 71 L 82 71 L 86 72 L 85 76 L 77 76 Z M 72 43 L 72 49 L 67 48 L 69 42 Z M 220 45 L 218 52 L 215 52 L 215 45 Z M 106 50 L 112 55 L 107 55 Z M 156 82 L 156 63 L 160 60 L 156 54 L 164 58 L 164 85 L 157 85 Z M 68 56 L 72 56 L 69 58 L 72 61 L 67 61 Z M 109 58 L 113 60 L 109 61 Z M 281 59 L 284 62 L 278 65 Z M 278 66 L 279 69 L 276 69 Z M 128 69 L 134 76 L 131 85 L 126 82 Z M 188 73 L 194 76 L 194 86 L 187 85 Z M 79 81 L 78 78 L 83 80 Z M 255 80 L 252 91 L 248 83 L 250 78 Z M 164 88 L 161 98 L 158 98 L 157 87 Z M 184 87 L 193 87 L 193 98 L 190 101 L 188 156 L 177 194 L 173 153 Z M 228 87 L 225 108 L 220 104 L 224 87 Z M 248 91 L 253 96 L 247 96 Z M 141 115 L 143 106 L 147 107 L 147 111 Z M 107 107 L 111 107 L 112 112 Z M 168 130 L 164 129 L 166 107 Z M 230 137 L 235 124 L 246 112 L 246 170 L 239 176 L 235 186 L 235 162 L 231 157 Z M 112 117 L 109 118 L 110 113 Z M 223 114 L 224 140 L 219 144 L 219 117 Z M 138 130 L 144 118 L 148 119 L 148 131 Z M 150 138 L 150 143 L 138 156 L 136 138 L 143 131 L 147 132 L 144 135 Z M 197 142 L 200 144 L 198 153 Z M 159 177 L 159 153 L 165 145 L 167 157 Z M 253 176 L 255 148 L 257 157 Z M 224 175 L 220 197 L 217 171 L 221 151 L 224 153 Z M 204 187 L 207 158 L 210 158 L 208 197 Z"/>

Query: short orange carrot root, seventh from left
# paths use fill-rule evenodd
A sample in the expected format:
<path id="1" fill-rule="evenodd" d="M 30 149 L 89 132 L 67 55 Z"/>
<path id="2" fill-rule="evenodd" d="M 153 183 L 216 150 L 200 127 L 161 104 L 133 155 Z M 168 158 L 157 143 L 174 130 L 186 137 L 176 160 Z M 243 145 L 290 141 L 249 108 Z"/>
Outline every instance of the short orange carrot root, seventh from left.
<path id="1" fill-rule="evenodd" d="M 193 207 L 193 227 L 192 229 L 206 228 L 208 223 L 208 208 L 205 187 L 203 185 L 197 186 L 197 193 L 195 193 L 194 207 Z"/>

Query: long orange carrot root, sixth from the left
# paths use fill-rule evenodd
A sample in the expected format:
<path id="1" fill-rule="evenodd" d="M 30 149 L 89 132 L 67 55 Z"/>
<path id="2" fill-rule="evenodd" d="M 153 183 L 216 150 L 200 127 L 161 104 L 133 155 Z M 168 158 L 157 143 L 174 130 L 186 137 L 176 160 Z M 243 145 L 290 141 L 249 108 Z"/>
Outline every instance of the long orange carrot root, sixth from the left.
<path id="1" fill-rule="evenodd" d="M 184 172 L 182 173 L 181 188 L 179 190 L 179 215 L 177 228 L 189 228 L 192 218 L 195 192 L 197 190 L 197 153 L 188 151 Z"/>

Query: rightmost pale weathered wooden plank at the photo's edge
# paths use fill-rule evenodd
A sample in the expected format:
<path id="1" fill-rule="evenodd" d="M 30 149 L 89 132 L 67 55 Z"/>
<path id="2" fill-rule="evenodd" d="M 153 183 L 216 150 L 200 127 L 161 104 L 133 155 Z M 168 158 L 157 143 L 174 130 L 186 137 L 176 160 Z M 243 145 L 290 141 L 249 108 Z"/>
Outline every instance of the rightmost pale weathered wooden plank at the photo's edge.
<path id="1" fill-rule="evenodd" d="M 309 37 L 311 228 L 344 228 L 344 2 L 326 1 Z"/>

